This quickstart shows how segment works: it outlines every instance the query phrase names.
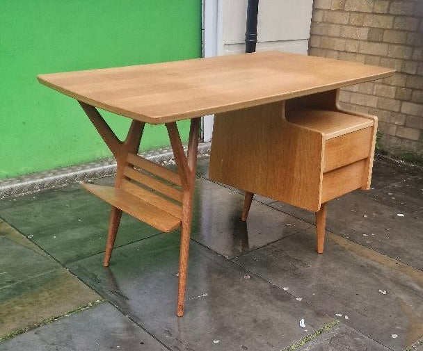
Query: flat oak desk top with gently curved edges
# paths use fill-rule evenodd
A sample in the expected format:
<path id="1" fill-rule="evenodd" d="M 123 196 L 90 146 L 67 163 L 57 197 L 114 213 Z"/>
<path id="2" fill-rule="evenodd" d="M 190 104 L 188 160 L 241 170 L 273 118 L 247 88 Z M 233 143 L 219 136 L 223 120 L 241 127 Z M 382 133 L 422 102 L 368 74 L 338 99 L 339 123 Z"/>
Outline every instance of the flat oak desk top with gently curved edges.
<path id="1" fill-rule="evenodd" d="M 86 104 L 161 124 L 391 76 L 389 68 L 267 51 L 169 63 L 41 74 Z"/>

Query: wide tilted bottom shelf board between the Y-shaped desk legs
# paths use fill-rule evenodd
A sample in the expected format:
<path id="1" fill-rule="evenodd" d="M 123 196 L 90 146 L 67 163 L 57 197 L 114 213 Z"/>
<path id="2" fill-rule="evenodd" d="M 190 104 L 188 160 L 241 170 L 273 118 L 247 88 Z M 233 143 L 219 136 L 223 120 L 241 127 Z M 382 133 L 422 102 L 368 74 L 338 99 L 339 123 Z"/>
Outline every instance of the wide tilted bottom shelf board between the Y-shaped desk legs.
<path id="1" fill-rule="evenodd" d="M 111 186 L 97 186 L 93 184 L 83 184 L 83 187 L 90 193 L 103 199 L 105 202 L 129 213 L 129 215 L 134 216 L 138 220 L 160 231 L 173 231 L 181 224 L 179 218 L 152 206 L 152 204 L 148 204 L 125 190 Z"/>

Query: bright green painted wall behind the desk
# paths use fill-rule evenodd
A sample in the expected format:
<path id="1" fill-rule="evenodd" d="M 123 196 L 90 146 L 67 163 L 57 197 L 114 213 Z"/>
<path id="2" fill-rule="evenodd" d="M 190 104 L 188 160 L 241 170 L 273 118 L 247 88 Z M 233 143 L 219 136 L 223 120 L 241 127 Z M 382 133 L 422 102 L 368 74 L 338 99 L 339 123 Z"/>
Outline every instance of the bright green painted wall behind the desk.
<path id="1" fill-rule="evenodd" d="M 1 0 L 0 179 L 111 156 L 77 101 L 37 74 L 200 53 L 200 0 Z M 122 138 L 129 120 L 104 115 Z M 141 149 L 168 145 L 163 126 L 144 133 Z"/>

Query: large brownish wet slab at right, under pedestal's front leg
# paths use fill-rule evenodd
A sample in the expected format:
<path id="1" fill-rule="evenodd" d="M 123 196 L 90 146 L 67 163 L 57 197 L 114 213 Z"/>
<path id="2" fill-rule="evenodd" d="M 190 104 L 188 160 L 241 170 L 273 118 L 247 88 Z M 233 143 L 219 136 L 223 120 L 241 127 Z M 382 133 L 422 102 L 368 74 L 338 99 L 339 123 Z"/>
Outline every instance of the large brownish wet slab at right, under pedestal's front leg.
<path id="1" fill-rule="evenodd" d="M 392 350 L 423 336 L 423 272 L 330 233 L 317 254 L 314 236 L 310 225 L 234 261 Z"/>

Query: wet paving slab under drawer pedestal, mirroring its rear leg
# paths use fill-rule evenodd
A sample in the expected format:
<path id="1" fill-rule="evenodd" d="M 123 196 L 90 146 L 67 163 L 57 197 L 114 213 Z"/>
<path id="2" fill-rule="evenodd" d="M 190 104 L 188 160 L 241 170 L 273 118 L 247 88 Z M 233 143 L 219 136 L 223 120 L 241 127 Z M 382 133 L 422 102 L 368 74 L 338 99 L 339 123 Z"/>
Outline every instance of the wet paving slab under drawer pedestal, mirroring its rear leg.
<path id="1" fill-rule="evenodd" d="M 244 196 L 206 179 L 197 179 L 191 238 L 233 258 L 303 229 L 303 222 L 255 202 L 241 221 Z"/>

